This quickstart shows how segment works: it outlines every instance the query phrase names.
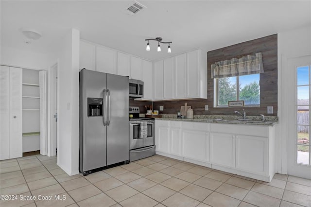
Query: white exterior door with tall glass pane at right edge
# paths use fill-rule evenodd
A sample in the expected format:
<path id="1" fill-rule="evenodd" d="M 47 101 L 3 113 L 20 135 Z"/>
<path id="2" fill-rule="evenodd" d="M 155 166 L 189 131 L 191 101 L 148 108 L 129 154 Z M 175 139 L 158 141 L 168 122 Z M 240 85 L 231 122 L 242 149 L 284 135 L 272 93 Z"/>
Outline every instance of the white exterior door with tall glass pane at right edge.
<path id="1" fill-rule="evenodd" d="M 311 179 L 311 55 L 288 64 L 288 174 Z"/>

